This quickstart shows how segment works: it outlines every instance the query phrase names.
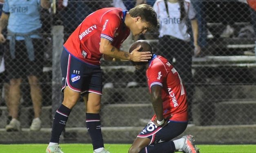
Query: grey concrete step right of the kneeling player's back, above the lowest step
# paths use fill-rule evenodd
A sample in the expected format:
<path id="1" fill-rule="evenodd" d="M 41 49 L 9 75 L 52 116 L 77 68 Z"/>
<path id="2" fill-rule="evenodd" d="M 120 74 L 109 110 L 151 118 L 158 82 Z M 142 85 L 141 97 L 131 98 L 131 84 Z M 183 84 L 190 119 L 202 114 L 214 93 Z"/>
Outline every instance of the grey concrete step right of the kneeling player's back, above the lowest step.
<path id="1" fill-rule="evenodd" d="M 250 125 L 256 124 L 254 101 L 223 101 L 196 103 L 192 107 L 195 125 Z"/>

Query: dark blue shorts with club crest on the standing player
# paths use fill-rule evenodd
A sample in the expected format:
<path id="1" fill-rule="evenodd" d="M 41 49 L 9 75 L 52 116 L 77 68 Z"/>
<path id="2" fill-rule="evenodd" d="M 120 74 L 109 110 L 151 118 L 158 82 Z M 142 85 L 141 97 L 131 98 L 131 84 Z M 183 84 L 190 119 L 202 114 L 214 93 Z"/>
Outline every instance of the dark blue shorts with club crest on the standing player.
<path id="1" fill-rule="evenodd" d="M 62 72 L 62 89 L 68 85 L 70 89 L 87 94 L 93 92 L 102 94 L 102 71 L 100 66 L 89 65 L 73 57 L 65 49 L 60 59 Z"/>

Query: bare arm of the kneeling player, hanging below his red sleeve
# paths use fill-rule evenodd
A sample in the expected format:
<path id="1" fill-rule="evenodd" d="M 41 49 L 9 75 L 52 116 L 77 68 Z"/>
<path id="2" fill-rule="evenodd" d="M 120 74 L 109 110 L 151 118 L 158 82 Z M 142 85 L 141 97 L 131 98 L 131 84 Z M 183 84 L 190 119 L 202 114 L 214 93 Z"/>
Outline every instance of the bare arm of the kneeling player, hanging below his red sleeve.
<path id="1" fill-rule="evenodd" d="M 163 118 L 163 100 L 161 94 L 162 86 L 160 85 L 152 85 L 150 99 L 156 114 L 156 118 L 158 121 L 162 121 Z"/>

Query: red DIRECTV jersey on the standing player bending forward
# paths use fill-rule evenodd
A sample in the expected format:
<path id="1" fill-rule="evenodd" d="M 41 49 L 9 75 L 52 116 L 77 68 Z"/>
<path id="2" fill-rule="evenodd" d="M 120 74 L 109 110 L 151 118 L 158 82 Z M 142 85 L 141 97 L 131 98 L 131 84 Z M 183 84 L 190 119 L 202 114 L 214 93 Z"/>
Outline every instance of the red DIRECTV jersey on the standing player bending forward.
<path id="1" fill-rule="evenodd" d="M 130 29 L 125 26 L 126 11 L 120 8 L 99 9 L 88 15 L 69 36 L 64 48 L 74 57 L 91 65 L 100 65 L 100 37 L 120 48 L 129 36 Z"/>

